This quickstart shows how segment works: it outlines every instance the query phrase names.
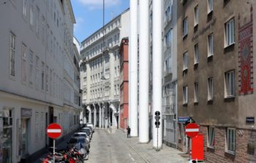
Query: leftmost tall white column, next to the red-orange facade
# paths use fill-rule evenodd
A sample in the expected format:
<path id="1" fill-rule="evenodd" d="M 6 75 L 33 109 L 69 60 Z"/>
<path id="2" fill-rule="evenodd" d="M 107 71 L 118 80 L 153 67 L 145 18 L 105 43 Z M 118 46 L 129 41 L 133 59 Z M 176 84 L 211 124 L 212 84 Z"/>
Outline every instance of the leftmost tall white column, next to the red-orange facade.
<path id="1" fill-rule="evenodd" d="M 129 1 L 129 127 L 138 137 L 138 0 Z"/>

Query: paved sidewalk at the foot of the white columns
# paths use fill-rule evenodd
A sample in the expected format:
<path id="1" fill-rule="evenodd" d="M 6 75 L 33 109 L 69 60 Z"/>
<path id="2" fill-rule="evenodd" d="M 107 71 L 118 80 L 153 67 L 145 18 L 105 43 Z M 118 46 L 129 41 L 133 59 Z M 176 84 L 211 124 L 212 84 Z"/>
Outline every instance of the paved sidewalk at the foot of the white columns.
<path id="1" fill-rule="evenodd" d="M 111 129 L 110 129 L 111 130 Z M 152 141 L 149 143 L 139 143 L 138 137 L 127 138 L 127 134 L 120 129 L 116 129 L 115 132 L 121 140 L 124 141 L 135 153 L 143 159 L 145 162 L 157 162 L 157 163 L 178 163 L 178 162 L 189 162 L 187 155 L 184 155 L 181 151 L 171 148 L 165 144 L 162 146 L 161 151 L 156 151 L 152 148 Z M 183 157 L 185 156 L 185 157 Z"/>

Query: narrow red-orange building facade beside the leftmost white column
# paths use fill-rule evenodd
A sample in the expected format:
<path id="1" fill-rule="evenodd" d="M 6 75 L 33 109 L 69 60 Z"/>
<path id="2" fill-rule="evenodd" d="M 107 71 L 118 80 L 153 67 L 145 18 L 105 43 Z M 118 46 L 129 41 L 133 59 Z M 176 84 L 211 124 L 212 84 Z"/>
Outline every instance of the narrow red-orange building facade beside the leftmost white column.
<path id="1" fill-rule="evenodd" d="M 121 39 L 120 55 L 120 128 L 126 130 L 129 121 L 129 39 Z"/>

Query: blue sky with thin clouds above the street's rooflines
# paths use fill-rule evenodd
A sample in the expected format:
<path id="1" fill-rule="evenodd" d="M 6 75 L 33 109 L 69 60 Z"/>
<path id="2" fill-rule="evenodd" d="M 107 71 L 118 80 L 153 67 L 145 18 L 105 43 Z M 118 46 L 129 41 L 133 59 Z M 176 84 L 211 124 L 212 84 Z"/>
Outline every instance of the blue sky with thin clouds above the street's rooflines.
<path id="1" fill-rule="evenodd" d="M 74 35 L 79 42 L 103 25 L 103 0 L 71 0 L 76 24 Z M 129 7 L 129 0 L 105 0 L 105 24 Z"/>

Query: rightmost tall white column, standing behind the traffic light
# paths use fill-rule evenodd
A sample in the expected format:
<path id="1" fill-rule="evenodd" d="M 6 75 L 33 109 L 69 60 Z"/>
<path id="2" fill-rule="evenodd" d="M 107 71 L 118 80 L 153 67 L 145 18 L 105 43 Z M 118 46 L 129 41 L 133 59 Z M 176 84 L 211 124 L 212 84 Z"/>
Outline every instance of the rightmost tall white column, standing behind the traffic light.
<path id="1" fill-rule="evenodd" d="M 153 1 L 153 115 L 160 112 L 157 129 L 153 118 L 153 148 L 162 148 L 162 0 Z"/>

